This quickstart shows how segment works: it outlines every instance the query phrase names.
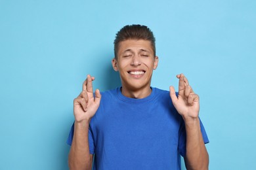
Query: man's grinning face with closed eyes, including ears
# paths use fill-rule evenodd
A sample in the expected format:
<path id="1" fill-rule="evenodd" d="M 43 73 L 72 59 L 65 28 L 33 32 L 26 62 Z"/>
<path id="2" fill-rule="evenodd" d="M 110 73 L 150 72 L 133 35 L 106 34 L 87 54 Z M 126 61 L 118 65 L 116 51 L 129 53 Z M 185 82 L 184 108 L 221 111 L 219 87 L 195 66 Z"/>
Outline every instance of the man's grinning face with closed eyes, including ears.
<path id="1" fill-rule="evenodd" d="M 153 70 L 158 67 L 158 57 L 150 41 L 126 40 L 119 43 L 117 59 L 112 60 L 115 71 L 119 71 L 125 90 L 150 88 Z"/>

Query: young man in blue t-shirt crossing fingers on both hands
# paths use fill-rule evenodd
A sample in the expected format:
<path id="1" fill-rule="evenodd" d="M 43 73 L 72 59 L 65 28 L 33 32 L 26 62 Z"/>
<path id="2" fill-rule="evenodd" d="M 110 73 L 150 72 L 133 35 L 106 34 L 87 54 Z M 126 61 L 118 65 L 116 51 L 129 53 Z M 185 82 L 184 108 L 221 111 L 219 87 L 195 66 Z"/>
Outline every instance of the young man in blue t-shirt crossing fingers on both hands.
<path id="1" fill-rule="evenodd" d="M 152 31 L 126 25 L 114 51 L 122 86 L 94 95 L 95 77 L 88 75 L 74 99 L 70 169 L 181 169 L 181 156 L 187 169 L 208 169 L 199 97 L 186 77 L 177 75 L 178 93 L 150 86 L 158 67 Z"/>

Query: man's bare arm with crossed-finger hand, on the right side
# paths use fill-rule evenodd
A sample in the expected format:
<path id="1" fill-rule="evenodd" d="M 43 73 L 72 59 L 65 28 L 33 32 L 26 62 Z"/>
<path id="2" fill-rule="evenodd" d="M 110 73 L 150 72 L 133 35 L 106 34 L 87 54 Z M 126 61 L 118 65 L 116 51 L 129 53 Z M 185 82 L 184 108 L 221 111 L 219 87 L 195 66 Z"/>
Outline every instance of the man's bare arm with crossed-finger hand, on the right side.
<path id="1" fill-rule="evenodd" d="M 184 158 L 186 169 L 208 169 L 209 155 L 203 142 L 199 120 L 199 96 L 193 92 L 186 77 L 181 74 L 179 78 L 179 95 L 170 86 L 170 96 L 177 112 L 181 114 L 186 127 L 186 156 Z"/>

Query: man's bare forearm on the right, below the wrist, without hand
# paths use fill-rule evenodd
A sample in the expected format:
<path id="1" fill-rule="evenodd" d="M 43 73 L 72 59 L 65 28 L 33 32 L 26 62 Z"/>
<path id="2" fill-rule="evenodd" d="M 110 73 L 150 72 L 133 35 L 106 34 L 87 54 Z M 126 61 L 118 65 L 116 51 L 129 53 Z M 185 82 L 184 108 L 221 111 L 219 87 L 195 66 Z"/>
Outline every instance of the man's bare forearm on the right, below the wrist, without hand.
<path id="1" fill-rule="evenodd" d="M 199 118 L 185 119 L 186 126 L 186 168 L 208 169 L 209 156 L 203 142 Z"/>

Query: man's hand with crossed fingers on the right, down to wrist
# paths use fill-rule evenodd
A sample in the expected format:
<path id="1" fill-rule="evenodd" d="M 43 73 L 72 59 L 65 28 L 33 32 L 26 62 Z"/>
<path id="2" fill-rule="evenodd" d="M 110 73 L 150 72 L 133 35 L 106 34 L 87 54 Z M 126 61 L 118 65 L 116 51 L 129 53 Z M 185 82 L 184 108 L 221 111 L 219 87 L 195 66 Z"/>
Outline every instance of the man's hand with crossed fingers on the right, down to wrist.
<path id="1" fill-rule="evenodd" d="M 170 96 L 175 109 L 181 114 L 183 119 L 198 118 L 200 109 L 199 96 L 193 92 L 191 86 L 188 84 L 188 80 L 183 74 L 177 75 L 177 78 L 179 78 L 178 97 L 174 87 L 170 86 Z"/>

